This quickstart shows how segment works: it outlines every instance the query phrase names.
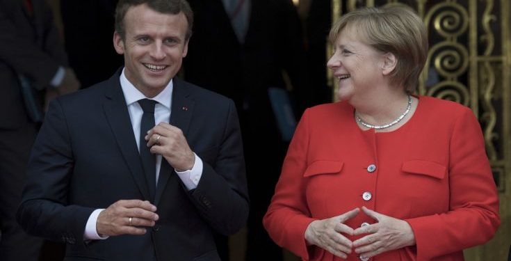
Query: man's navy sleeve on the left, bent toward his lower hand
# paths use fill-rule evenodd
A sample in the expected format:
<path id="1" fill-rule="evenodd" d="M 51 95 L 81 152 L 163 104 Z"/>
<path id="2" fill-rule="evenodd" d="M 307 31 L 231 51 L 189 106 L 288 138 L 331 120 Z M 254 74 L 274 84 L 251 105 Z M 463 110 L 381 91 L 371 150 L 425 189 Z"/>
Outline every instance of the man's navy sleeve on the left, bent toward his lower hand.
<path id="1" fill-rule="evenodd" d="M 31 235 L 76 244 L 92 208 L 67 204 L 74 167 L 70 134 L 58 99 L 51 102 L 27 167 L 17 220 Z"/>

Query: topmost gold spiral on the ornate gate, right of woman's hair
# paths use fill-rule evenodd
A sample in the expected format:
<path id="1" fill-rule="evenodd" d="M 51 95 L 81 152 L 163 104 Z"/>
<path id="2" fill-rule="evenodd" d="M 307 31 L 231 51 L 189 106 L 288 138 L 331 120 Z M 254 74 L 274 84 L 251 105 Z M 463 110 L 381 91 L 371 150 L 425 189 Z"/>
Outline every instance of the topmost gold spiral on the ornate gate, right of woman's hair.
<path id="1" fill-rule="evenodd" d="M 438 11 L 440 13 L 433 17 Z M 426 26 L 430 26 L 432 18 L 434 18 L 435 31 L 445 38 L 456 38 L 465 33 L 469 26 L 467 10 L 455 2 L 439 3 L 433 6 L 425 16 Z"/>

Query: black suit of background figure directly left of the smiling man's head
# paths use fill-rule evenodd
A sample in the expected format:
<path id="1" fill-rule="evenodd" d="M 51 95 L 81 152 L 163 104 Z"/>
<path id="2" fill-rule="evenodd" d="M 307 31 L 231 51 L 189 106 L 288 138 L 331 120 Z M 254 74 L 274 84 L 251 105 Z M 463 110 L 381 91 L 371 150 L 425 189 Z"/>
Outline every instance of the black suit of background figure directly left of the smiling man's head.
<path id="1" fill-rule="evenodd" d="M 83 88 L 111 77 L 122 65 L 112 47 L 118 0 L 60 0 L 65 50 Z"/>

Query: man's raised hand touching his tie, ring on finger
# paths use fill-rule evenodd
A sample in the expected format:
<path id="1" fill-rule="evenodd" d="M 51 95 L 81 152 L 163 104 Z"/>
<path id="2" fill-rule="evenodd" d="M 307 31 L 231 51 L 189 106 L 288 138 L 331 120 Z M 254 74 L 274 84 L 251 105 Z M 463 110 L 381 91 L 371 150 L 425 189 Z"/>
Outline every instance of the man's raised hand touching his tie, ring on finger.
<path id="1" fill-rule="evenodd" d="M 176 171 L 188 171 L 193 168 L 195 155 L 178 127 L 160 122 L 149 130 L 145 140 L 151 148 L 151 153 L 162 155 Z"/>

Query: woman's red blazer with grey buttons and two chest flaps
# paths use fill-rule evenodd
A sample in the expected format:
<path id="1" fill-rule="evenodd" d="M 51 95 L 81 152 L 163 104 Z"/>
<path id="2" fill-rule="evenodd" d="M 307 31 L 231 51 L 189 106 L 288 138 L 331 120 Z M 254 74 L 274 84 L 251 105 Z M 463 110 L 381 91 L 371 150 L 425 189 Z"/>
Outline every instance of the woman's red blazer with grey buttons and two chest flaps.
<path id="1" fill-rule="evenodd" d="M 362 206 L 407 221 L 416 239 L 416 246 L 375 261 L 463 260 L 464 248 L 493 237 L 498 196 L 470 109 L 419 97 L 414 116 L 394 132 L 363 131 L 353 113 L 339 102 L 302 116 L 263 219 L 277 244 L 303 260 L 341 260 L 307 247 L 305 230 L 316 219 Z M 360 212 L 346 224 L 355 229 L 364 222 L 375 220 Z M 348 260 L 359 258 L 352 253 Z"/>

